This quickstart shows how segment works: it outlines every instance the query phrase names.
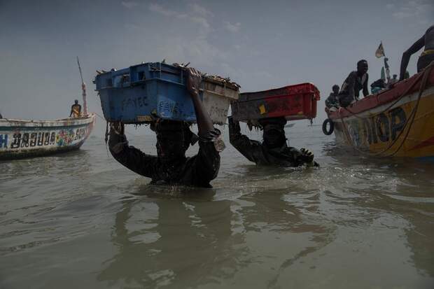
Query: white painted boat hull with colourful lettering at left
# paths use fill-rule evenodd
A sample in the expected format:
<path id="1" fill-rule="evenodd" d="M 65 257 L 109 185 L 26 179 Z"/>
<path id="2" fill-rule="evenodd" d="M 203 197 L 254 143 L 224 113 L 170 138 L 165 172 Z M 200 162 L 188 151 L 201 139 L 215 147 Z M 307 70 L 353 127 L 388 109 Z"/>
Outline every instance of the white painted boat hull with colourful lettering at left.
<path id="1" fill-rule="evenodd" d="M 62 120 L 0 119 L 0 160 L 77 150 L 92 132 L 95 115 Z"/>

